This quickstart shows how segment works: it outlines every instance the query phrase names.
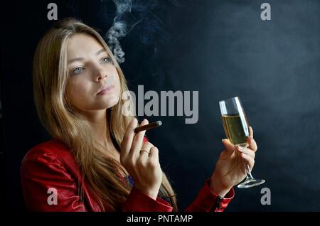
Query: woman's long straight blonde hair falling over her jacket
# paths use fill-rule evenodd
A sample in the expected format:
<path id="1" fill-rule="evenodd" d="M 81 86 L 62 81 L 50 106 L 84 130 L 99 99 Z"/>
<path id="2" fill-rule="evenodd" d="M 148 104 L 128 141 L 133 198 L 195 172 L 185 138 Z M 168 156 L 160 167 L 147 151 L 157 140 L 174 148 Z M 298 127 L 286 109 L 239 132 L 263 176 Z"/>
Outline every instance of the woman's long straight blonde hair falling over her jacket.
<path id="1" fill-rule="evenodd" d="M 86 33 L 105 47 L 119 74 L 120 93 L 128 91 L 123 72 L 100 34 L 75 18 L 65 18 L 43 36 L 36 48 L 33 91 L 38 116 L 50 135 L 72 151 L 84 181 L 89 185 L 102 210 L 105 210 L 106 206 L 111 210 L 121 210 L 122 203 L 132 189 L 129 183 L 123 183 L 119 178 L 119 175 L 128 176 L 127 171 L 119 162 L 106 158 L 96 148 L 90 123 L 72 110 L 65 92 L 68 80 L 67 41 L 76 33 Z M 123 104 L 124 100 L 119 98 L 119 102 L 112 109 L 107 109 L 107 127 L 118 151 L 125 129 L 133 118 L 122 114 Z M 132 98 L 131 104 L 133 106 Z M 174 190 L 165 173 L 163 175 L 159 195 L 169 198 L 174 210 L 178 210 Z"/>

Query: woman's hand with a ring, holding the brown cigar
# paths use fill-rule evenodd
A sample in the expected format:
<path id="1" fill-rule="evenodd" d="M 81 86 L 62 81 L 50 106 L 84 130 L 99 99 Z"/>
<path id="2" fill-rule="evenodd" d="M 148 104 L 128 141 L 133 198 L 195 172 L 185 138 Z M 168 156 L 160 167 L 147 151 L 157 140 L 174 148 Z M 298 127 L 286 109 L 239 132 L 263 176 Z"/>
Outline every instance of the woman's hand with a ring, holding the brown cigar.
<path id="1" fill-rule="evenodd" d="M 159 151 L 150 142 L 144 143 L 145 130 L 134 133 L 137 123 L 134 118 L 127 127 L 121 143 L 120 162 L 134 178 L 134 188 L 156 200 L 162 181 Z M 140 126 L 146 124 L 149 122 L 144 119 Z"/>

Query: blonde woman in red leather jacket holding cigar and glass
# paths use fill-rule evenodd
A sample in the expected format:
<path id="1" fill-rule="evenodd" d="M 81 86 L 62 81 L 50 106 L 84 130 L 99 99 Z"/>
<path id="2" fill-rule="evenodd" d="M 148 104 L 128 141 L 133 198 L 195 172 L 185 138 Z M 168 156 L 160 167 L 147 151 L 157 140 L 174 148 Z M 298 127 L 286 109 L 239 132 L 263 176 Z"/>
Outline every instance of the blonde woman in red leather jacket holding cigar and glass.
<path id="1" fill-rule="evenodd" d="M 178 210 L 158 149 L 145 131 L 134 133 L 137 119 L 122 114 L 127 82 L 99 33 L 73 18 L 60 21 L 38 43 L 33 67 L 38 115 L 53 139 L 23 158 L 28 210 Z M 245 178 L 243 163 L 254 165 L 251 127 L 250 134 L 242 150 L 223 139 L 213 175 L 186 211 L 226 208 Z"/>

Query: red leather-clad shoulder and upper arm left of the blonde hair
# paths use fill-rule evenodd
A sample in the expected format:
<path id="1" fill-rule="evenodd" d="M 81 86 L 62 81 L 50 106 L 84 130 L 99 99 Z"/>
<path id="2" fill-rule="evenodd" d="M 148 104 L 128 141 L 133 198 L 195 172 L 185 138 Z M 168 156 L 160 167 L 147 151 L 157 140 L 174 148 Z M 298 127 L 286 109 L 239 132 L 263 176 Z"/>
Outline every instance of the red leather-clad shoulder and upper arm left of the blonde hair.
<path id="1" fill-rule="evenodd" d="M 50 140 L 33 146 L 24 156 L 20 170 L 28 210 L 86 210 L 78 195 L 79 184 L 82 184 L 80 171 L 65 144 Z M 55 202 L 59 204 L 49 204 L 49 197 L 56 197 Z"/>

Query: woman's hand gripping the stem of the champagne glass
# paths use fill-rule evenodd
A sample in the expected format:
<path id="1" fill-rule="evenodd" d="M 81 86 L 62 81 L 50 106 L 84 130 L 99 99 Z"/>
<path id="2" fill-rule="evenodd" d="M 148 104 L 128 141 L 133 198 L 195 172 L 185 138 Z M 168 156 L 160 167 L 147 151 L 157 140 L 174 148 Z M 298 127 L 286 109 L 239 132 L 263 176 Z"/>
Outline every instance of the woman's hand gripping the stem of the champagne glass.
<path id="1" fill-rule="evenodd" d="M 228 139 L 223 139 L 225 150 L 221 152 L 215 165 L 215 171 L 210 178 L 210 188 L 213 193 L 224 197 L 234 185 L 240 183 L 246 176 L 245 167 L 247 165 L 252 170 L 255 164 L 255 151 L 257 143 L 253 139 L 253 130 L 250 129 L 250 136 L 247 138 L 247 148 L 241 150 L 235 147 Z"/>

